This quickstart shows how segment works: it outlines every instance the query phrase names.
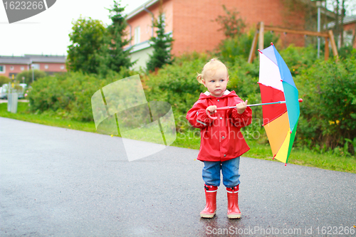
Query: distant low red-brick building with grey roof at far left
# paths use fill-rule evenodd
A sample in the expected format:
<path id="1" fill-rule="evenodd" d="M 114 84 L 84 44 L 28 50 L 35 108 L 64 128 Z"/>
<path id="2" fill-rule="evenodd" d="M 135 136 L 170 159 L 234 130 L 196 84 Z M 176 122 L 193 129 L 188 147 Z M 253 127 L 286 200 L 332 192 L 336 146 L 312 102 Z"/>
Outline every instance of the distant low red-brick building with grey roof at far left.
<path id="1" fill-rule="evenodd" d="M 0 56 L 0 75 L 9 78 L 31 68 L 48 74 L 66 72 L 66 56 L 25 54 L 25 56 Z"/>

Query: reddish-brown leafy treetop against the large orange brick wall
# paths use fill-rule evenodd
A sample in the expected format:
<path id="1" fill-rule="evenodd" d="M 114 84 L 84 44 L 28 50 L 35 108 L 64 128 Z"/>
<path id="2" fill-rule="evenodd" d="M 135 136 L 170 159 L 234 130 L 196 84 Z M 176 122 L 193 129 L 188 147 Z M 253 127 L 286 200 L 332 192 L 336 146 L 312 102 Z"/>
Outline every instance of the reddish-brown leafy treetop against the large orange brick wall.
<path id="1" fill-rule="evenodd" d="M 229 11 L 225 5 L 223 5 L 223 9 L 226 16 L 218 16 L 218 18 L 215 19 L 215 21 L 222 26 L 219 31 L 224 31 L 226 37 L 241 36 L 246 24 L 244 20 L 239 17 L 239 11 Z"/>

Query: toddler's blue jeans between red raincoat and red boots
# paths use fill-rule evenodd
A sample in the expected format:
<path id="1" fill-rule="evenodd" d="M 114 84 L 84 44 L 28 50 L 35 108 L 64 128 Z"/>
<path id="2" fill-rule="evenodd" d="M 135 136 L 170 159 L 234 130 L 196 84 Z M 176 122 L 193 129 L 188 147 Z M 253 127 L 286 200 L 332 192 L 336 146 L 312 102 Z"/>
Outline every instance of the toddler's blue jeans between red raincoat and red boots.
<path id="1" fill-rule="evenodd" d="M 220 186 L 220 170 L 223 174 L 223 184 L 227 188 L 240 184 L 240 157 L 226 162 L 204 162 L 203 180 L 206 185 Z"/>

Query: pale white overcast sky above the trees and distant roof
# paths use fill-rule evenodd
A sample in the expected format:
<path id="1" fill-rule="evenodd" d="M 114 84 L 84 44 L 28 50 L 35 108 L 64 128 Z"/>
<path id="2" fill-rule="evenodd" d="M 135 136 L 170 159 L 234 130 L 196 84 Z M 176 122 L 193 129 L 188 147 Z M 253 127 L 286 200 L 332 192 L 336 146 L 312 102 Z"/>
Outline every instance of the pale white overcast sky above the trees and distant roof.
<path id="1" fill-rule="evenodd" d="M 121 6 L 126 6 L 125 13 L 130 13 L 146 1 L 122 0 Z M 81 15 L 109 24 L 107 9 L 113 5 L 113 2 L 113 0 L 57 0 L 46 11 L 11 24 L 7 19 L 4 4 L 0 4 L 0 56 L 67 55 L 67 47 L 70 45 L 68 34 L 73 26 L 72 21 L 76 21 Z"/>

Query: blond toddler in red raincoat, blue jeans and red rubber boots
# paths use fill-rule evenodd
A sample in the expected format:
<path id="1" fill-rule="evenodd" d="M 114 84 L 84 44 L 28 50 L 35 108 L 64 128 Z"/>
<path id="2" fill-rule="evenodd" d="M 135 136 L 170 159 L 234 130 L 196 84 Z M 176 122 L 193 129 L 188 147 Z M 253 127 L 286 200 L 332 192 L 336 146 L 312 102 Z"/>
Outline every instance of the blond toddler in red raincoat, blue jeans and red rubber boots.
<path id="1" fill-rule="evenodd" d="M 203 180 L 206 206 L 201 211 L 203 218 L 212 218 L 216 213 L 216 191 L 220 185 L 220 171 L 226 186 L 228 218 L 240 218 L 239 162 L 241 154 L 250 149 L 241 134 L 241 127 L 251 124 L 252 110 L 234 91 L 226 90 L 229 74 L 221 61 L 213 58 L 204 65 L 197 80 L 207 91 L 187 112 L 187 120 L 193 127 L 201 129 L 201 144 L 198 158 L 204 162 Z M 229 110 L 216 110 L 217 107 L 236 106 Z M 216 120 L 209 116 L 217 115 Z"/>

